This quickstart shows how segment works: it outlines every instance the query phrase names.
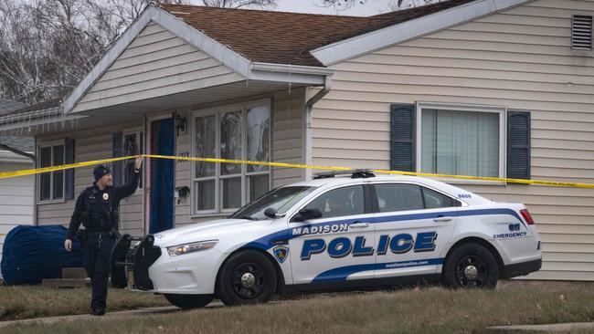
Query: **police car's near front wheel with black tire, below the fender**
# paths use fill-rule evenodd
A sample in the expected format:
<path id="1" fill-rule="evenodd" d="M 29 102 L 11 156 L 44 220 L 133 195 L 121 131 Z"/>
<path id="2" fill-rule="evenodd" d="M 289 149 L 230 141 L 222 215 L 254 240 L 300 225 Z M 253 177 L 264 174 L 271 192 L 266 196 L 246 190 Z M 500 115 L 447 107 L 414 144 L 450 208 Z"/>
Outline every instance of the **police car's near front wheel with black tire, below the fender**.
<path id="1" fill-rule="evenodd" d="M 274 295 L 277 275 L 270 259 L 247 250 L 232 256 L 222 266 L 217 297 L 228 306 L 265 303 Z"/>

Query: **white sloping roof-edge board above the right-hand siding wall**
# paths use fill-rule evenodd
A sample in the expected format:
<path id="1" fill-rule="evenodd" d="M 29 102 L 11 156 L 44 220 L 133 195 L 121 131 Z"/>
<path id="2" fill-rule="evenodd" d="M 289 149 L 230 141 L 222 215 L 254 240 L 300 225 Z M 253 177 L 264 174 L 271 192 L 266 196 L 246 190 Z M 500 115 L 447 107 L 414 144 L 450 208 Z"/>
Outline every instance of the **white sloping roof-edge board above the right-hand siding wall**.
<path id="1" fill-rule="evenodd" d="M 348 58 L 361 56 L 531 1 L 534 0 L 478 0 L 318 47 L 311 51 L 311 54 L 324 66 L 330 66 Z"/>

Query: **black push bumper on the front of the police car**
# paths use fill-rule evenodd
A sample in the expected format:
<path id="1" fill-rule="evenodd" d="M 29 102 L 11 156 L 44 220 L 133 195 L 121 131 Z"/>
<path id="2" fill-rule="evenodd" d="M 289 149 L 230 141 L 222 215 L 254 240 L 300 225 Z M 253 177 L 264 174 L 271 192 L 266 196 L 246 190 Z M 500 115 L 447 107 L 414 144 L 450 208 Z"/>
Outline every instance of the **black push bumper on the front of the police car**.
<path id="1" fill-rule="evenodd" d="M 133 241 L 140 241 L 131 247 Z M 149 267 L 161 256 L 161 248 L 154 245 L 154 236 L 122 235 L 111 251 L 111 286 L 153 290 Z"/>

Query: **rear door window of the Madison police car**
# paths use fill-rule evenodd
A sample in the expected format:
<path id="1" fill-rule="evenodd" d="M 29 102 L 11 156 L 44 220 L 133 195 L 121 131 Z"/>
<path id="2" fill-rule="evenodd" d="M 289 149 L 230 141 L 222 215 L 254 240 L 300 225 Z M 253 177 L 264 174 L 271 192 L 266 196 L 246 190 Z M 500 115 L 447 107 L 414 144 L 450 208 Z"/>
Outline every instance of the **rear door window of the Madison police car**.
<path id="1" fill-rule="evenodd" d="M 376 193 L 380 213 L 423 209 L 423 196 L 419 185 L 376 184 Z"/>

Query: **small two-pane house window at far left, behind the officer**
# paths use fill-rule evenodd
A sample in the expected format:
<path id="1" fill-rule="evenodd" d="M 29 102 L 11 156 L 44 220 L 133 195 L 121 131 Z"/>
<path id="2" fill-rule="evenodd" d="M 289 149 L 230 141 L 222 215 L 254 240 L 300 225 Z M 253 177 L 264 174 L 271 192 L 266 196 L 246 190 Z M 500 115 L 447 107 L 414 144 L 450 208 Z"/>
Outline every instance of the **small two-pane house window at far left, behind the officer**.
<path id="1" fill-rule="evenodd" d="M 38 148 L 40 168 L 64 164 L 64 141 L 41 145 Z M 39 202 L 64 199 L 64 171 L 43 172 L 39 174 Z"/>

